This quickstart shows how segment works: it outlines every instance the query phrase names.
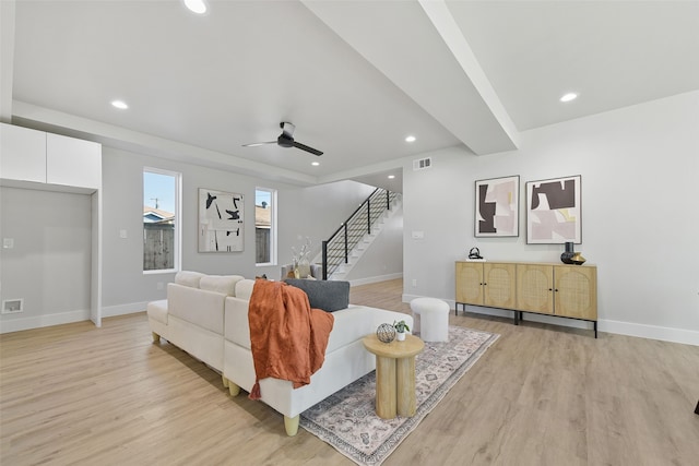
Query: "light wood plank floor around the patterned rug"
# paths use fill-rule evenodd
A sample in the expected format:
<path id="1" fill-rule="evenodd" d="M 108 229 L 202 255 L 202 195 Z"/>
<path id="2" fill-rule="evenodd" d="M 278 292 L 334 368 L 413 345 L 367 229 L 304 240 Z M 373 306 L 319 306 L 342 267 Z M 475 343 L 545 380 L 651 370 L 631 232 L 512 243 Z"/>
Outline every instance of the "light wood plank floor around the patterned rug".
<path id="1" fill-rule="evenodd" d="M 408 312 L 401 280 L 352 302 Z M 699 347 L 476 314 L 501 337 L 383 463 L 697 465 Z M 186 353 L 144 313 L 0 336 L 2 465 L 353 465 Z"/>

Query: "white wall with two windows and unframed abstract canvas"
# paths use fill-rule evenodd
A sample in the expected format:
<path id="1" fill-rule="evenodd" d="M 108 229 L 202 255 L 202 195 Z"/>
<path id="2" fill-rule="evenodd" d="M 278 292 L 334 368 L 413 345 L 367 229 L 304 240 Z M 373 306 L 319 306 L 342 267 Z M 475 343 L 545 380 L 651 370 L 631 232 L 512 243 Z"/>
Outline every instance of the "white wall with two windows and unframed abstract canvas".
<path id="1" fill-rule="evenodd" d="M 292 246 L 297 249 L 310 237 L 320 248 L 329 236 L 371 192 L 365 184 L 344 181 L 311 188 L 291 187 L 244 175 L 173 162 L 164 158 L 103 147 L 104 274 L 103 314 L 138 312 L 149 301 L 164 299 L 173 273 L 143 274 L 143 168 L 152 167 L 182 174 L 182 270 L 210 274 L 266 274 L 277 279 L 280 266 L 254 264 L 254 190 L 279 190 L 279 261 L 291 262 Z M 197 242 L 198 190 L 237 192 L 245 196 L 245 251 L 200 253 Z M 120 238 L 127 230 L 127 238 Z M 159 285 L 162 289 L 159 289 Z"/>

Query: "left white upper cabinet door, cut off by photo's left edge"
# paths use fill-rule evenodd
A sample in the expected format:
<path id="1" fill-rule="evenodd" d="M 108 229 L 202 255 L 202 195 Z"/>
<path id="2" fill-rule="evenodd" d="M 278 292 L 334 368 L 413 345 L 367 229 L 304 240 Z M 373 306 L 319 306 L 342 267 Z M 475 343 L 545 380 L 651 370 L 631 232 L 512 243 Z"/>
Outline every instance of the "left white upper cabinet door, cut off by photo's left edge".
<path id="1" fill-rule="evenodd" d="M 0 123 L 0 178 L 46 182 L 46 133 Z"/>

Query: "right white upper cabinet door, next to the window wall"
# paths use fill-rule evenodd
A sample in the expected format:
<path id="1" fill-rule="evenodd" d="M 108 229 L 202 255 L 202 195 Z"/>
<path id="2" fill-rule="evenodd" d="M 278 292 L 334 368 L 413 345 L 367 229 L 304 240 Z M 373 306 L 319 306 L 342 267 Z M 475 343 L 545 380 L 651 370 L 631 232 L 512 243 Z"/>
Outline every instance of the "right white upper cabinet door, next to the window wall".
<path id="1" fill-rule="evenodd" d="M 48 133 L 46 182 L 80 188 L 102 188 L 102 145 Z"/>

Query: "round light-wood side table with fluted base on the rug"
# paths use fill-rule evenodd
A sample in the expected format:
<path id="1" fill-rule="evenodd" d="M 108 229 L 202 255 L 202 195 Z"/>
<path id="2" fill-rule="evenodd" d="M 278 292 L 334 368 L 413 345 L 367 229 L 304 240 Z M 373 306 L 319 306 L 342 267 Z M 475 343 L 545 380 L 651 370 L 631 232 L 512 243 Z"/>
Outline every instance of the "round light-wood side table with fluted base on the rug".
<path id="1" fill-rule="evenodd" d="M 381 419 L 415 416 L 415 355 L 425 343 L 414 335 L 405 340 L 383 343 L 375 333 L 362 339 L 376 355 L 376 414 Z"/>

